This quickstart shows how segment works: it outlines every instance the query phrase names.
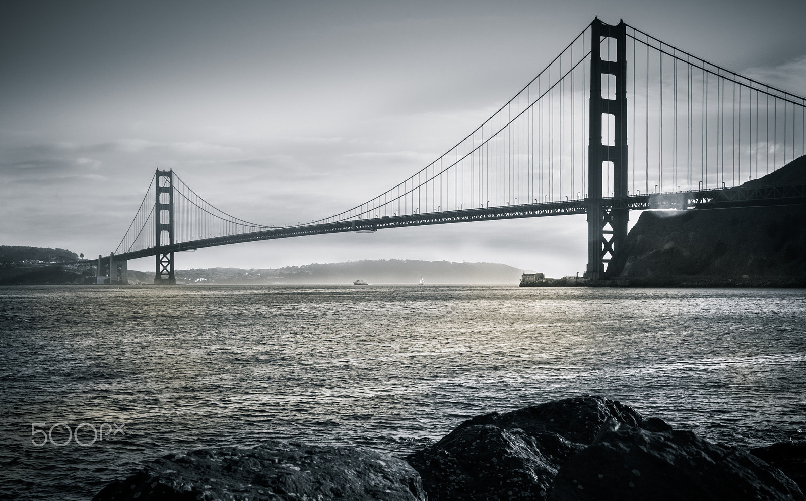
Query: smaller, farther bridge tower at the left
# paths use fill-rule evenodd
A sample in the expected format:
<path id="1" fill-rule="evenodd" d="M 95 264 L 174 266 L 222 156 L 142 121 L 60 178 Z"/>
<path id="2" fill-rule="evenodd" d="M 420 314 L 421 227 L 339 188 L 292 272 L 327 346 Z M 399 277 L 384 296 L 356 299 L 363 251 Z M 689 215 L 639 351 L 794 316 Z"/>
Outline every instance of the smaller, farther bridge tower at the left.
<path id="1" fill-rule="evenodd" d="M 156 229 L 156 275 L 155 285 L 173 285 L 177 279 L 173 276 L 173 251 L 163 252 L 160 247 L 173 245 L 173 169 L 156 170 L 154 182 L 156 201 L 154 216 Z"/>

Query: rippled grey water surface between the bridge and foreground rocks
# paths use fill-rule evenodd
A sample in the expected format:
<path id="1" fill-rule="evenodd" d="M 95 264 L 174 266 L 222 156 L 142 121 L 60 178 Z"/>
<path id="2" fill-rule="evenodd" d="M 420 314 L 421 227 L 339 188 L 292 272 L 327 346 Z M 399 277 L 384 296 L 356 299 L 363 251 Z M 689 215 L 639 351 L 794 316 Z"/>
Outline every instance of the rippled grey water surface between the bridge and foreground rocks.
<path id="1" fill-rule="evenodd" d="M 0 288 L 0 497 L 89 499 L 165 453 L 267 438 L 404 454 L 472 415 L 584 393 L 733 445 L 803 438 L 804 299 L 806 290 Z M 81 425 L 89 445 L 32 443 L 44 436 L 33 430 L 60 423 L 52 441 Z M 92 442 L 89 425 L 104 423 Z"/>

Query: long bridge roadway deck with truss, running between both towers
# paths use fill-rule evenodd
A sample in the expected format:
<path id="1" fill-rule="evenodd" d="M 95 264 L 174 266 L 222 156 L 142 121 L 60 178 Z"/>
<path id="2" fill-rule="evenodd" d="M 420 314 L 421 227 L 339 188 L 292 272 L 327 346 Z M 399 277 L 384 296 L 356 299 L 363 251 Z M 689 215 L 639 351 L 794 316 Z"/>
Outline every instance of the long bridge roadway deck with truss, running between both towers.
<path id="1" fill-rule="evenodd" d="M 771 205 L 796 205 L 806 203 L 806 185 L 796 186 L 737 186 L 733 188 L 668 192 L 662 194 L 635 194 L 623 198 L 592 200 L 580 198 L 559 202 L 540 202 L 509 205 L 504 207 L 479 207 L 457 211 L 427 212 L 412 215 L 383 216 L 372 219 L 352 219 L 333 223 L 300 224 L 275 228 L 262 232 L 249 232 L 231 236 L 217 236 L 193 240 L 159 248 L 146 248 L 120 253 L 116 260 L 154 256 L 156 253 L 175 253 L 219 245 L 242 244 L 260 240 L 275 240 L 294 236 L 322 235 L 343 232 L 374 232 L 382 228 L 401 228 L 426 224 L 463 223 L 494 219 L 517 219 L 547 215 L 586 214 L 591 204 L 601 205 L 606 210 L 627 209 L 716 209 L 728 207 L 757 207 Z M 84 262 L 84 261 L 81 261 Z"/>

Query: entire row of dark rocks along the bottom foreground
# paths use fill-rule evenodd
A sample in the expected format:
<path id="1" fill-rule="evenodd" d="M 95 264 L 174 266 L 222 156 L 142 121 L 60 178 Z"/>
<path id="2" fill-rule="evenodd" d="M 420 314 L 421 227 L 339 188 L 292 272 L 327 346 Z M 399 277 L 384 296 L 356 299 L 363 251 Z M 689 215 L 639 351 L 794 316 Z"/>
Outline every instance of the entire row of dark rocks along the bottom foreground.
<path id="1" fill-rule="evenodd" d="M 277 440 L 168 455 L 93 499 L 806 501 L 804 470 L 806 442 L 743 451 L 584 395 L 477 416 L 405 460 Z"/>

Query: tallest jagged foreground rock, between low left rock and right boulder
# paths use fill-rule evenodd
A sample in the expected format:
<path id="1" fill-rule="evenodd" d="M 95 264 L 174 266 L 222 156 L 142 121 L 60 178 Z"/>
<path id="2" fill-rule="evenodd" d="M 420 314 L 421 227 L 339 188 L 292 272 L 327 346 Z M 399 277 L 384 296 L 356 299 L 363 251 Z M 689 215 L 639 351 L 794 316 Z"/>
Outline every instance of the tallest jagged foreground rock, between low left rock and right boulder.
<path id="1" fill-rule="evenodd" d="M 406 459 L 420 472 L 430 501 L 546 499 L 559 467 L 592 443 L 608 420 L 671 429 L 617 401 L 574 397 L 477 416 Z"/>

